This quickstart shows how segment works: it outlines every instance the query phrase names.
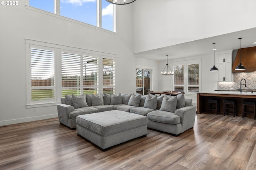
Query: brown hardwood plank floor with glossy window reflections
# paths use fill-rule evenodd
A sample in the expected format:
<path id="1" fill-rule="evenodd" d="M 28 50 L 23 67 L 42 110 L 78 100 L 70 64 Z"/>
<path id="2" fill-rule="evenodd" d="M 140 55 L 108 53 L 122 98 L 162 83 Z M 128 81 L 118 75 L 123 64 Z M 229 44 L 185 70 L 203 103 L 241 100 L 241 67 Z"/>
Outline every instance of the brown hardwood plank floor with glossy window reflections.
<path id="1" fill-rule="evenodd" d="M 103 152 L 57 118 L 0 128 L 0 169 L 256 169 L 256 121 L 196 115 L 180 136 L 148 129 L 144 138 Z"/>

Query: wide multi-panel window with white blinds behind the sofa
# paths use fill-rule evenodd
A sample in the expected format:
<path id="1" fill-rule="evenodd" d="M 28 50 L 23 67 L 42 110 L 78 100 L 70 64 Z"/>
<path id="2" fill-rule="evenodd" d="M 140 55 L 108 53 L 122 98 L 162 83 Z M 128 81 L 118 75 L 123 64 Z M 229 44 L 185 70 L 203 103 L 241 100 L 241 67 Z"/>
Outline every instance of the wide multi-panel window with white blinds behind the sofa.
<path id="1" fill-rule="evenodd" d="M 65 95 L 115 93 L 116 55 L 26 40 L 27 108 Z M 100 77 L 100 78 L 99 78 Z"/>

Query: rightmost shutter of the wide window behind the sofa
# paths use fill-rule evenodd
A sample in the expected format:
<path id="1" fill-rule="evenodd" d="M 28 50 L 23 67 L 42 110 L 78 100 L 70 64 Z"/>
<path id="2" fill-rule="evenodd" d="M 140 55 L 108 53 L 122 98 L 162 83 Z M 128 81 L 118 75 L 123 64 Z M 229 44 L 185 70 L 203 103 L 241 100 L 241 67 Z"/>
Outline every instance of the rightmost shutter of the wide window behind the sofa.
<path id="1" fill-rule="evenodd" d="M 103 93 L 115 93 L 116 63 L 115 59 L 102 59 L 103 64 Z"/>

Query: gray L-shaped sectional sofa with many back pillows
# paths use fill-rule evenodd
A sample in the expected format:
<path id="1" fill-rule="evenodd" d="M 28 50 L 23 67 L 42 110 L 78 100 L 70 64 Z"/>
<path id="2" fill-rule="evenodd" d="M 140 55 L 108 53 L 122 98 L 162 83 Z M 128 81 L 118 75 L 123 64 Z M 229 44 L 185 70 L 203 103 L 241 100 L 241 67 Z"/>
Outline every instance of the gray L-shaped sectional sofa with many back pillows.
<path id="1" fill-rule="evenodd" d="M 148 128 L 161 130 L 173 135 L 193 128 L 196 106 L 192 99 L 185 99 L 184 94 L 140 95 L 136 94 L 82 94 L 66 95 L 57 105 L 61 124 L 76 128 L 76 117 L 90 113 L 120 110 L 148 117 Z"/>

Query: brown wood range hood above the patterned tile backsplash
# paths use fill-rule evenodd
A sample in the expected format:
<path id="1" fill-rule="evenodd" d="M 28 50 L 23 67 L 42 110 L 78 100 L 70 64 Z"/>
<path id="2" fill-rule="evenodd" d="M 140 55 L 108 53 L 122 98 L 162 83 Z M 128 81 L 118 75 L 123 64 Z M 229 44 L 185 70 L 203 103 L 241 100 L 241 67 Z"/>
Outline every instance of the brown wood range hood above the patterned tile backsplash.
<path id="1" fill-rule="evenodd" d="M 246 70 L 235 70 L 236 66 L 240 64 L 240 50 L 241 63 Z M 237 50 L 236 58 L 232 66 L 232 73 L 252 72 L 256 71 L 256 47 L 241 48 Z"/>

